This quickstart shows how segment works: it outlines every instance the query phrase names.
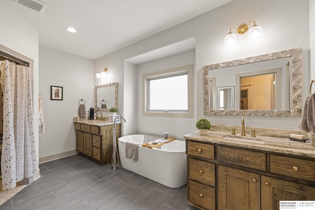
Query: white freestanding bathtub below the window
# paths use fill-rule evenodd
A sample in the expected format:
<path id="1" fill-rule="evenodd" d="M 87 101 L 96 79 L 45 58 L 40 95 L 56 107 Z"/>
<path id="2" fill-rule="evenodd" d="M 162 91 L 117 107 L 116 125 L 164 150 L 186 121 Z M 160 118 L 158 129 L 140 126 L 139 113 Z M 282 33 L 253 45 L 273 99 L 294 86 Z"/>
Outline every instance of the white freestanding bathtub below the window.
<path id="1" fill-rule="evenodd" d="M 118 139 L 119 157 L 123 168 L 171 188 L 186 185 L 187 155 L 185 141 L 174 140 L 160 148 L 150 149 L 142 147 L 144 137 L 145 135 L 135 134 Z M 126 142 L 140 144 L 136 162 L 126 159 Z"/>

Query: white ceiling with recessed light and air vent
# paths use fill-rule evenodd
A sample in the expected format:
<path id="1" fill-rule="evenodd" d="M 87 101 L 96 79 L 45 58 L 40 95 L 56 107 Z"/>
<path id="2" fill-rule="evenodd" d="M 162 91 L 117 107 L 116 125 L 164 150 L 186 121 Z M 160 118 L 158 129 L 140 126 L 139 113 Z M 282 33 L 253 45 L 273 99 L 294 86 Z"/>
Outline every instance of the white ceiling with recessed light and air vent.
<path id="1" fill-rule="evenodd" d="M 94 60 L 232 0 L 40 0 L 43 13 L 1 1 L 39 31 L 40 45 Z"/>

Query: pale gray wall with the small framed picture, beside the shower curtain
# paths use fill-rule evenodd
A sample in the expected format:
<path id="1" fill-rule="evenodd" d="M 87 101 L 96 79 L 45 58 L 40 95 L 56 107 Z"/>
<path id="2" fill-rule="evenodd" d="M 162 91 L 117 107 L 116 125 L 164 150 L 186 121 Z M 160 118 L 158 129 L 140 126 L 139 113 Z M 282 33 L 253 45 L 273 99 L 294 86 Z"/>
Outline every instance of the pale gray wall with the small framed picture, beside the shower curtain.
<path id="1" fill-rule="evenodd" d="M 45 132 L 39 137 L 39 156 L 75 150 L 73 117 L 79 100 L 86 109 L 94 107 L 93 60 L 39 47 L 39 91 Z M 50 86 L 63 87 L 63 100 L 50 100 Z"/>

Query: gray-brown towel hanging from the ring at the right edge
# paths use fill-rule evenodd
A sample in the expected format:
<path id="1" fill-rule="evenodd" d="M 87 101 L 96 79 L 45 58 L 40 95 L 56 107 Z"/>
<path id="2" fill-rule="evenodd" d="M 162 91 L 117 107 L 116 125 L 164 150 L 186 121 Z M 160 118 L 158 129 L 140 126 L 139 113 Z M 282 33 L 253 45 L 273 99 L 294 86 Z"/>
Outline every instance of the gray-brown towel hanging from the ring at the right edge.
<path id="1" fill-rule="evenodd" d="M 303 116 L 299 129 L 315 133 L 315 93 L 309 95 L 305 100 Z"/>

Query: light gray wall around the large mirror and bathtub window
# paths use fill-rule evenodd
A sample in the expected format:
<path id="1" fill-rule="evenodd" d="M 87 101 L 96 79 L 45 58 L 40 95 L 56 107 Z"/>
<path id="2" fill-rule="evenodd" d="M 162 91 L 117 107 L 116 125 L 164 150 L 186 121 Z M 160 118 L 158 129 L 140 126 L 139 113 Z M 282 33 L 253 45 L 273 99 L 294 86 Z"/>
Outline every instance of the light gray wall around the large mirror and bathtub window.
<path id="1" fill-rule="evenodd" d="M 279 11 L 285 11 L 285 14 Z M 259 40 L 248 40 L 245 34 L 238 36 L 238 41 L 235 45 L 224 45 L 223 39 L 230 28 L 237 28 L 239 25 L 248 24 L 251 21 L 255 21 L 257 25 L 262 26 L 264 29 L 263 36 Z M 305 55 L 307 55 L 310 50 L 309 23 L 309 0 L 234 0 L 169 30 L 162 31 L 121 50 L 96 59 L 95 72 L 98 65 L 110 65 L 119 75 L 117 78 L 118 82 L 124 85 L 125 81 L 123 78 L 127 68 L 124 66 L 123 60 L 195 36 L 194 97 L 196 105 L 194 107 L 193 119 L 143 117 L 140 111 L 140 107 L 142 106 L 139 105 L 139 103 L 142 103 L 140 101 L 142 100 L 142 95 L 140 95 L 142 93 L 138 85 L 137 87 L 133 87 L 134 89 L 138 89 L 139 94 L 138 100 L 134 102 L 138 103 L 136 131 L 144 133 L 164 132 L 163 122 L 167 120 L 173 122 L 167 124 L 169 125 L 167 126 L 168 132 L 180 138 L 196 130 L 194 122 L 203 117 L 208 118 L 214 124 L 240 125 L 241 120 L 239 117 L 203 115 L 202 66 L 298 47 L 302 47 Z M 299 30 L 292 30 L 295 27 L 298 27 Z M 308 60 L 307 57 L 308 55 L 305 57 L 306 60 Z M 156 70 L 163 70 L 163 64 L 163 60 L 157 61 L 155 66 L 160 66 L 161 68 Z M 177 64 L 178 66 L 184 65 L 185 61 Z M 308 89 L 310 81 L 307 78 L 309 78 L 310 67 L 308 63 L 304 63 L 304 67 L 303 78 L 306 78 L 305 84 L 306 89 Z M 138 72 L 142 74 L 139 69 Z M 139 80 L 140 77 L 138 76 L 137 82 L 141 84 L 142 81 Z M 119 94 L 124 93 L 119 91 Z M 306 94 L 303 95 L 304 98 L 306 96 Z M 130 101 L 120 100 L 119 102 L 120 107 L 129 105 Z M 125 113 L 121 114 L 124 115 Z M 298 129 L 300 120 L 300 118 L 246 117 L 245 125 Z M 128 123 L 124 125 L 125 130 L 128 130 L 124 135 L 135 132 L 135 130 L 127 129 L 129 125 Z"/>

